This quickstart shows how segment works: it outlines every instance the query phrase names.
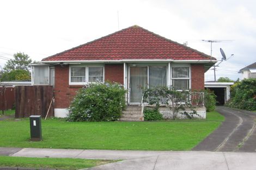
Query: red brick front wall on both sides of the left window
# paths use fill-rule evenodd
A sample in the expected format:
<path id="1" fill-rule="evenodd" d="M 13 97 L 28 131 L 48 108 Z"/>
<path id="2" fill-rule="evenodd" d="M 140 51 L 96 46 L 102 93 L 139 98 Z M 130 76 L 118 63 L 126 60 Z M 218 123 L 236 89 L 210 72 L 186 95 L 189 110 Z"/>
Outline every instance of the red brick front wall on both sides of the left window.
<path id="1" fill-rule="evenodd" d="M 123 64 L 105 65 L 105 81 L 115 81 L 123 84 L 124 82 L 124 67 Z M 55 66 L 55 105 L 56 109 L 68 108 L 70 102 L 76 95 L 76 91 L 82 85 L 69 85 L 69 66 Z"/>

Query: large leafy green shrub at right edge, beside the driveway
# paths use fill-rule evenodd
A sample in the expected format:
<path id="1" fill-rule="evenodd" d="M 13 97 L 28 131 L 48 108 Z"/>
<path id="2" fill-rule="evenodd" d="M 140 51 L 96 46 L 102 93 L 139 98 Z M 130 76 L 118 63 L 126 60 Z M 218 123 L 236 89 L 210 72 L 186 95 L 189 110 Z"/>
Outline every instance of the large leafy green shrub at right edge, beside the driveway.
<path id="1" fill-rule="evenodd" d="M 226 104 L 231 108 L 256 109 L 256 79 L 244 79 L 231 87 L 231 99 Z"/>

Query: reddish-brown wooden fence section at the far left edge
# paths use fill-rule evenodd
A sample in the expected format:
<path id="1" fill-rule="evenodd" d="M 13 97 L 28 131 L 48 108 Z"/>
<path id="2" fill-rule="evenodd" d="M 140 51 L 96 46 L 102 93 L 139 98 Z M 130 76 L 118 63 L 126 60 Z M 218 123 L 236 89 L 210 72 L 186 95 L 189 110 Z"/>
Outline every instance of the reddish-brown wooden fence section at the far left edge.
<path id="1" fill-rule="evenodd" d="M 15 104 L 15 88 L 0 87 L 0 110 L 13 109 Z"/>

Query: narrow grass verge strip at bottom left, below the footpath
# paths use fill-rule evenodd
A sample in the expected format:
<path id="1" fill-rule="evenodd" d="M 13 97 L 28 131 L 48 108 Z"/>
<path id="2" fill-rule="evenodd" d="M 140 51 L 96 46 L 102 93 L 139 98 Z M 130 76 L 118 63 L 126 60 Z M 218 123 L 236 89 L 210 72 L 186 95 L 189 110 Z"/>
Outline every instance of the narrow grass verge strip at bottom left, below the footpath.
<path id="1" fill-rule="evenodd" d="M 72 158 L 26 158 L 13 156 L 0 156 L 0 167 L 26 167 L 51 169 L 82 169 L 105 163 L 112 160 L 88 160 Z"/>

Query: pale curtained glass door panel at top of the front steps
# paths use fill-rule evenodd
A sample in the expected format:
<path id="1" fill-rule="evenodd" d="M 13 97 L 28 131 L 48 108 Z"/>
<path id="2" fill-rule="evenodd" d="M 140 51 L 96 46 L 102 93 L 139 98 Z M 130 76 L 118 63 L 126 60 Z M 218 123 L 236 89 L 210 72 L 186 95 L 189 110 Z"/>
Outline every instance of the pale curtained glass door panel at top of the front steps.
<path id="1" fill-rule="evenodd" d="M 130 104 L 139 104 L 142 87 L 148 86 L 148 67 L 130 67 Z"/>

